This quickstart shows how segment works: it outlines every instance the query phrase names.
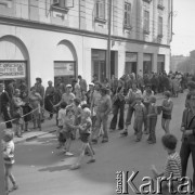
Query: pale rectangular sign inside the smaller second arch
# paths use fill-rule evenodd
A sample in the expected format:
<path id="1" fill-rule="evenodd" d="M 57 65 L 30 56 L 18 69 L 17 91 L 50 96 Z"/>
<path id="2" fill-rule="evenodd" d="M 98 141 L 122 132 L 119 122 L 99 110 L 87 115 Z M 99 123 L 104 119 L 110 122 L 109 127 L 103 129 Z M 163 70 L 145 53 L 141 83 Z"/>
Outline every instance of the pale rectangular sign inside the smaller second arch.
<path id="1" fill-rule="evenodd" d="M 75 63 L 74 62 L 54 62 L 54 76 L 74 76 Z"/>

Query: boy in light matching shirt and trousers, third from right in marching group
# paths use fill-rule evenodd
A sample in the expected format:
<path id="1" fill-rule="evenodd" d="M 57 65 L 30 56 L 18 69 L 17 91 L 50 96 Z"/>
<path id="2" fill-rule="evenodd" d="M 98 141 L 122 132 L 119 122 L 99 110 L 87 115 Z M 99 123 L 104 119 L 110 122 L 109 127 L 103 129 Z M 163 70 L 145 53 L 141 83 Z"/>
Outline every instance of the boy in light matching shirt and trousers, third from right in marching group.
<path id="1" fill-rule="evenodd" d="M 136 104 L 134 105 L 134 134 L 136 135 L 135 142 L 140 142 L 142 139 L 142 126 L 144 122 L 144 119 L 146 117 L 146 108 L 144 104 L 142 103 L 142 95 L 136 94 L 135 101 Z"/>

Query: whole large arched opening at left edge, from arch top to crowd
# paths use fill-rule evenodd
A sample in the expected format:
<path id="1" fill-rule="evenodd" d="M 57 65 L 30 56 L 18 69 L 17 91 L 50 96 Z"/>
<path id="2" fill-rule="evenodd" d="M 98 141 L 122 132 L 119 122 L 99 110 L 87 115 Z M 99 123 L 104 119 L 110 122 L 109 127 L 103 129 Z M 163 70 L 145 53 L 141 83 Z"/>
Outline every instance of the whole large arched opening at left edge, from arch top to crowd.
<path id="1" fill-rule="evenodd" d="M 0 81 L 6 87 L 13 79 L 30 84 L 29 54 L 21 39 L 8 35 L 0 38 Z"/>

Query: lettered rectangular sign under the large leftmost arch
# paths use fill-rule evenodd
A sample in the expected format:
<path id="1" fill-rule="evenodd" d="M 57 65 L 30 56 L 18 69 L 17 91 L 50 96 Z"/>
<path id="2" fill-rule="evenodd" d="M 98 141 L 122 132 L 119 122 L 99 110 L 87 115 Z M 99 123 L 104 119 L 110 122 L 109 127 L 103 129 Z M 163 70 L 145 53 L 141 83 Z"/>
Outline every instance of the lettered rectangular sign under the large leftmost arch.
<path id="1" fill-rule="evenodd" d="M 25 62 L 0 62 L 0 79 L 26 77 Z"/>

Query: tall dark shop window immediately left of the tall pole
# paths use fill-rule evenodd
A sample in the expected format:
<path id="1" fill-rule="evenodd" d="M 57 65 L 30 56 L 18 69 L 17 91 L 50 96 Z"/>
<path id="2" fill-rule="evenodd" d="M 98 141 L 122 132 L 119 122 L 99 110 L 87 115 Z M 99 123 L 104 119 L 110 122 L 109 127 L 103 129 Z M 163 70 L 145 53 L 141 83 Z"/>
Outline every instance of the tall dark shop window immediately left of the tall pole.
<path id="1" fill-rule="evenodd" d="M 100 82 L 106 78 L 106 51 L 92 50 L 92 76 L 96 75 Z"/>

